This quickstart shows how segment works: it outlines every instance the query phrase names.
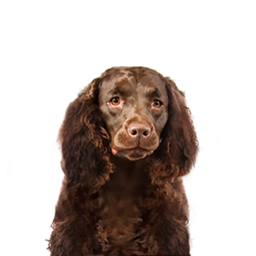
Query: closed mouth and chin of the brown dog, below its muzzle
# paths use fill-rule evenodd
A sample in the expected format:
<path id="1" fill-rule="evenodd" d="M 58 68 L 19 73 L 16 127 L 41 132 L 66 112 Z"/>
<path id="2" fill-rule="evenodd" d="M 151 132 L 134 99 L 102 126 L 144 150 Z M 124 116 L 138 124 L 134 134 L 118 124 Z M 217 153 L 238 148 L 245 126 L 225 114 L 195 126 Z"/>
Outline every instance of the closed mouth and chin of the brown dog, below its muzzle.
<path id="1" fill-rule="evenodd" d="M 148 150 L 140 147 L 122 148 L 119 150 L 111 148 L 111 152 L 113 155 L 125 156 L 129 160 L 140 160 L 146 157 L 147 155 L 153 154 L 154 150 Z"/>

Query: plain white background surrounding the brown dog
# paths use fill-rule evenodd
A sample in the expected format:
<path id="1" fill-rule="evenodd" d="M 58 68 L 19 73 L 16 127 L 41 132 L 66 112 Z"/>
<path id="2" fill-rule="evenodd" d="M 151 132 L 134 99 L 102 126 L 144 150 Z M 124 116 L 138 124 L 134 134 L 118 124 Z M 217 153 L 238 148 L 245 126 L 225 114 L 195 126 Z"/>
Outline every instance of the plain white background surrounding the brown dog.
<path id="1" fill-rule="evenodd" d="M 253 2 L 2 1 L 0 254 L 49 255 L 68 103 L 109 67 L 145 66 L 186 92 L 200 141 L 191 255 L 256 255 Z"/>

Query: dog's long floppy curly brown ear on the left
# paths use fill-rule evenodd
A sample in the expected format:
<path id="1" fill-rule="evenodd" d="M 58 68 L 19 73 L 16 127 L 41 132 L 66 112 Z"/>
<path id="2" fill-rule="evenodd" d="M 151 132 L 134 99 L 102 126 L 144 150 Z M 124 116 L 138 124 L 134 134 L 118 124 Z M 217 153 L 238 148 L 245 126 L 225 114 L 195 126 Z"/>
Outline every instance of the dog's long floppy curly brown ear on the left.
<path id="1" fill-rule="evenodd" d="M 61 125 L 61 166 L 67 185 L 99 188 L 112 172 L 109 136 L 98 108 L 101 79 L 94 79 L 67 108 Z"/>

